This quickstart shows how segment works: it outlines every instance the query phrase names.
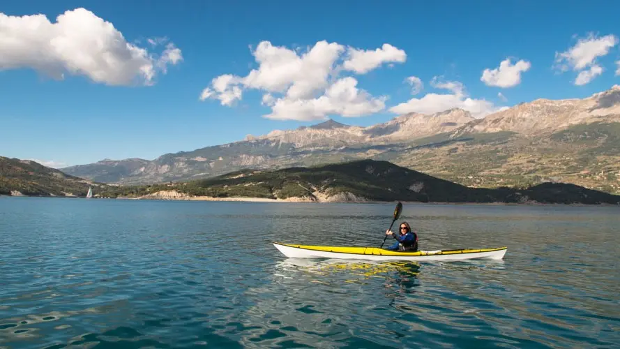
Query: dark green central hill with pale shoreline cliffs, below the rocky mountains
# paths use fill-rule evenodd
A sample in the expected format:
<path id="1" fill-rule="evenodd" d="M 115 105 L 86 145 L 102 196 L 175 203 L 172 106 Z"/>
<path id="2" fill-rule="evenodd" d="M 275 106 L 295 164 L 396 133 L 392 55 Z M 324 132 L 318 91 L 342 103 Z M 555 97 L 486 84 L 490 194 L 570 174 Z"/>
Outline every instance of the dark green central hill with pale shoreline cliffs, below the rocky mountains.
<path id="1" fill-rule="evenodd" d="M 351 161 L 273 171 L 241 170 L 211 179 L 151 186 L 108 187 L 101 195 L 139 197 L 179 191 L 213 198 L 304 198 L 337 201 L 542 202 L 617 205 L 619 195 L 573 184 L 545 183 L 531 188 L 469 188 L 387 161 Z"/>

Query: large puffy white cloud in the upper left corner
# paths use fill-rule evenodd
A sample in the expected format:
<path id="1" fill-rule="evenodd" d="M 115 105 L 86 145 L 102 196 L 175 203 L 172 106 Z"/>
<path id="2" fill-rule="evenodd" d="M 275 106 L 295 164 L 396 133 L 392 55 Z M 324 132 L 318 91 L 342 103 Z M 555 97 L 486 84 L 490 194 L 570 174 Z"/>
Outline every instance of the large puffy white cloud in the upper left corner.
<path id="1" fill-rule="evenodd" d="M 69 73 L 108 85 L 151 85 L 158 70 L 166 73 L 182 60 L 173 43 L 157 57 L 84 8 L 66 11 L 55 23 L 45 15 L 0 13 L 0 70 L 33 68 L 59 80 Z"/>

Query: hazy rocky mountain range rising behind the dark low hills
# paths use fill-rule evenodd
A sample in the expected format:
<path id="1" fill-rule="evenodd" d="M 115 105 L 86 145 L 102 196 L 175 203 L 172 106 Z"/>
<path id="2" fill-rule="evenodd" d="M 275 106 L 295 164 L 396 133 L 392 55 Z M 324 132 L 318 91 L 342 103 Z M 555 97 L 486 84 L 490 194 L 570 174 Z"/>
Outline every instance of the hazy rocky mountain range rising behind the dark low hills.
<path id="1" fill-rule="evenodd" d="M 472 187 L 572 183 L 620 193 L 620 86 L 583 99 L 537 99 L 472 117 L 410 113 L 368 127 L 333 120 L 154 160 L 98 161 L 60 170 L 93 181 L 147 184 L 360 159 Z"/>

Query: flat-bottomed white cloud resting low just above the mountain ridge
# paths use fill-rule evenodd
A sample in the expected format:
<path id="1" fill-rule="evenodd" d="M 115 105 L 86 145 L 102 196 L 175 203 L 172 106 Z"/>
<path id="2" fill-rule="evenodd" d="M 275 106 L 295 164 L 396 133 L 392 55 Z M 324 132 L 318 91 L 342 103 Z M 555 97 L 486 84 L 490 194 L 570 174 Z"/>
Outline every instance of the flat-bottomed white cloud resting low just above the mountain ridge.
<path id="1" fill-rule="evenodd" d="M 433 77 L 431 86 L 436 89 L 447 89 L 451 94 L 425 94 L 422 98 L 411 98 L 405 103 L 400 103 L 389 110 L 395 114 L 407 114 L 418 112 L 432 114 L 443 112 L 451 108 L 461 108 L 471 112 L 476 118 L 485 117 L 492 112 L 497 112 L 504 107 L 497 107 L 492 102 L 484 99 L 469 98 L 462 83 L 456 81 L 440 82 L 439 77 Z"/>

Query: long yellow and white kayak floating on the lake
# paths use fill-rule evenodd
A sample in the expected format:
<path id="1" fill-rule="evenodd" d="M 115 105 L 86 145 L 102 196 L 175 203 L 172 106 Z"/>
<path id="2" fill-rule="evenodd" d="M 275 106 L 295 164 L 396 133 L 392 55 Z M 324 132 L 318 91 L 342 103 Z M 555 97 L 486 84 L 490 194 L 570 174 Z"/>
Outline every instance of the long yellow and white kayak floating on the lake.
<path id="1" fill-rule="evenodd" d="M 378 247 L 312 246 L 273 242 L 288 258 L 340 258 L 350 260 L 471 260 L 504 258 L 508 247 L 400 252 Z"/>

